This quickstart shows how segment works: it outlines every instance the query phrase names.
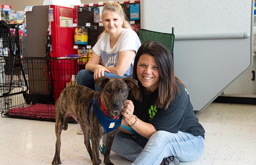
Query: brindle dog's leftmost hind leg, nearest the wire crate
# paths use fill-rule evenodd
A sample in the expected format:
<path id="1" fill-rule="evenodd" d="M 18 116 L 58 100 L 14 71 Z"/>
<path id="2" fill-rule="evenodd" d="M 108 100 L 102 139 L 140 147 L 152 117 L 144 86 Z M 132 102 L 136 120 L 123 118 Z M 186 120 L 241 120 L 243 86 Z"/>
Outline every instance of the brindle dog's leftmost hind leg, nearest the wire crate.
<path id="1" fill-rule="evenodd" d="M 61 141 L 60 141 L 60 135 L 61 131 L 64 125 L 64 119 L 57 119 L 56 118 L 56 123 L 55 123 L 55 134 L 56 134 L 56 143 L 55 143 L 55 155 L 53 158 L 53 161 L 51 164 L 53 165 L 58 165 L 61 164 L 60 161 L 60 146 L 61 146 Z"/>

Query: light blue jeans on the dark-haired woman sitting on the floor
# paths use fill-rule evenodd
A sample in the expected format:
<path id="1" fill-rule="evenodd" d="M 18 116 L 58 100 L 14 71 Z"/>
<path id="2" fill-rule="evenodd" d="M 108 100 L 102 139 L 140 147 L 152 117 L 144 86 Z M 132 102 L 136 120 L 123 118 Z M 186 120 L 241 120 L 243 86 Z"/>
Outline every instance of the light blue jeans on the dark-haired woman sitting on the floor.
<path id="1" fill-rule="evenodd" d="M 179 131 L 170 133 L 157 131 L 152 134 L 144 148 L 124 132 L 118 131 L 111 150 L 133 161 L 131 165 L 159 165 L 163 158 L 176 156 L 179 161 L 197 159 L 205 149 L 204 139 Z M 103 144 L 105 138 L 103 137 Z"/>

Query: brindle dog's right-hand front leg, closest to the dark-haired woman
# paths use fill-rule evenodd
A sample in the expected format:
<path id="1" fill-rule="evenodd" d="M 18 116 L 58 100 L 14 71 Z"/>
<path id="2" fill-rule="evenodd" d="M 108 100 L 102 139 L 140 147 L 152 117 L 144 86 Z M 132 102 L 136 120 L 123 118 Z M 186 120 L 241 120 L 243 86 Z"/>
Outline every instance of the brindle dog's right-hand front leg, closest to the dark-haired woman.
<path id="1" fill-rule="evenodd" d="M 107 137 L 106 137 L 106 146 L 105 146 L 105 152 L 104 152 L 104 164 L 105 165 L 114 165 L 110 159 L 109 159 L 109 155 L 110 155 L 110 150 L 111 150 L 111 146 L 113 144 L 114 138 L 115 138 L 115 134 L 116 131 L 118 129 L 107 133 Z"/>

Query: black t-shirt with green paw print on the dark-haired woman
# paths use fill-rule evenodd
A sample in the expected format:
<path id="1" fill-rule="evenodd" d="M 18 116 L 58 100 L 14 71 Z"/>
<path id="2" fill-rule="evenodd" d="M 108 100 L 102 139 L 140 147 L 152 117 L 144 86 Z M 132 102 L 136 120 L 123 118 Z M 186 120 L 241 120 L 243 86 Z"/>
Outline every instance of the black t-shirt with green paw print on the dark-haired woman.
<path id="1" fill-rule="evenodd" d="M 189 93 L 180 82 L 177 81 L 177 84 L 180 94 L 176 92 L 175 99 L 171 101 L 166 110 L 159 109 L 154 105 L 154 101 L 158 97 L 158 90 L 149 95 L 143 94 L 142 103 L 135 100 L 129 93 L 128 99 L 132 100 L 135 107 L 134 115 L 144 122 L 151 123 L 157 131 L 163 130 L 171 133 L 182 131 L 205 138 L 205 130 L 194 114 Z M 135 141 L 144 147 L 148 139 L 138 135 Z"/>

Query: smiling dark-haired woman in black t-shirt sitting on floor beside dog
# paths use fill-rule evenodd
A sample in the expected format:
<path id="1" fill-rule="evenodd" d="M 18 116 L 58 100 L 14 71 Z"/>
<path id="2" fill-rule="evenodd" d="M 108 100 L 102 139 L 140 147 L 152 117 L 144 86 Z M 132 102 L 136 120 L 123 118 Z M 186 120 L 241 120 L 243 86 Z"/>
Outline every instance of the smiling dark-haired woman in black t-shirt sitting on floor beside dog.
<path id="1" fill-rule="evenodd" d="M 204 150 L 205 130 L 185 85 L 175 76 L 167 48 L 154 41 L 143 43 L 133 78 L 139 88 L 129 93 L 111 150 L 132 165 L 178 165 L 198 158 Z"/>

